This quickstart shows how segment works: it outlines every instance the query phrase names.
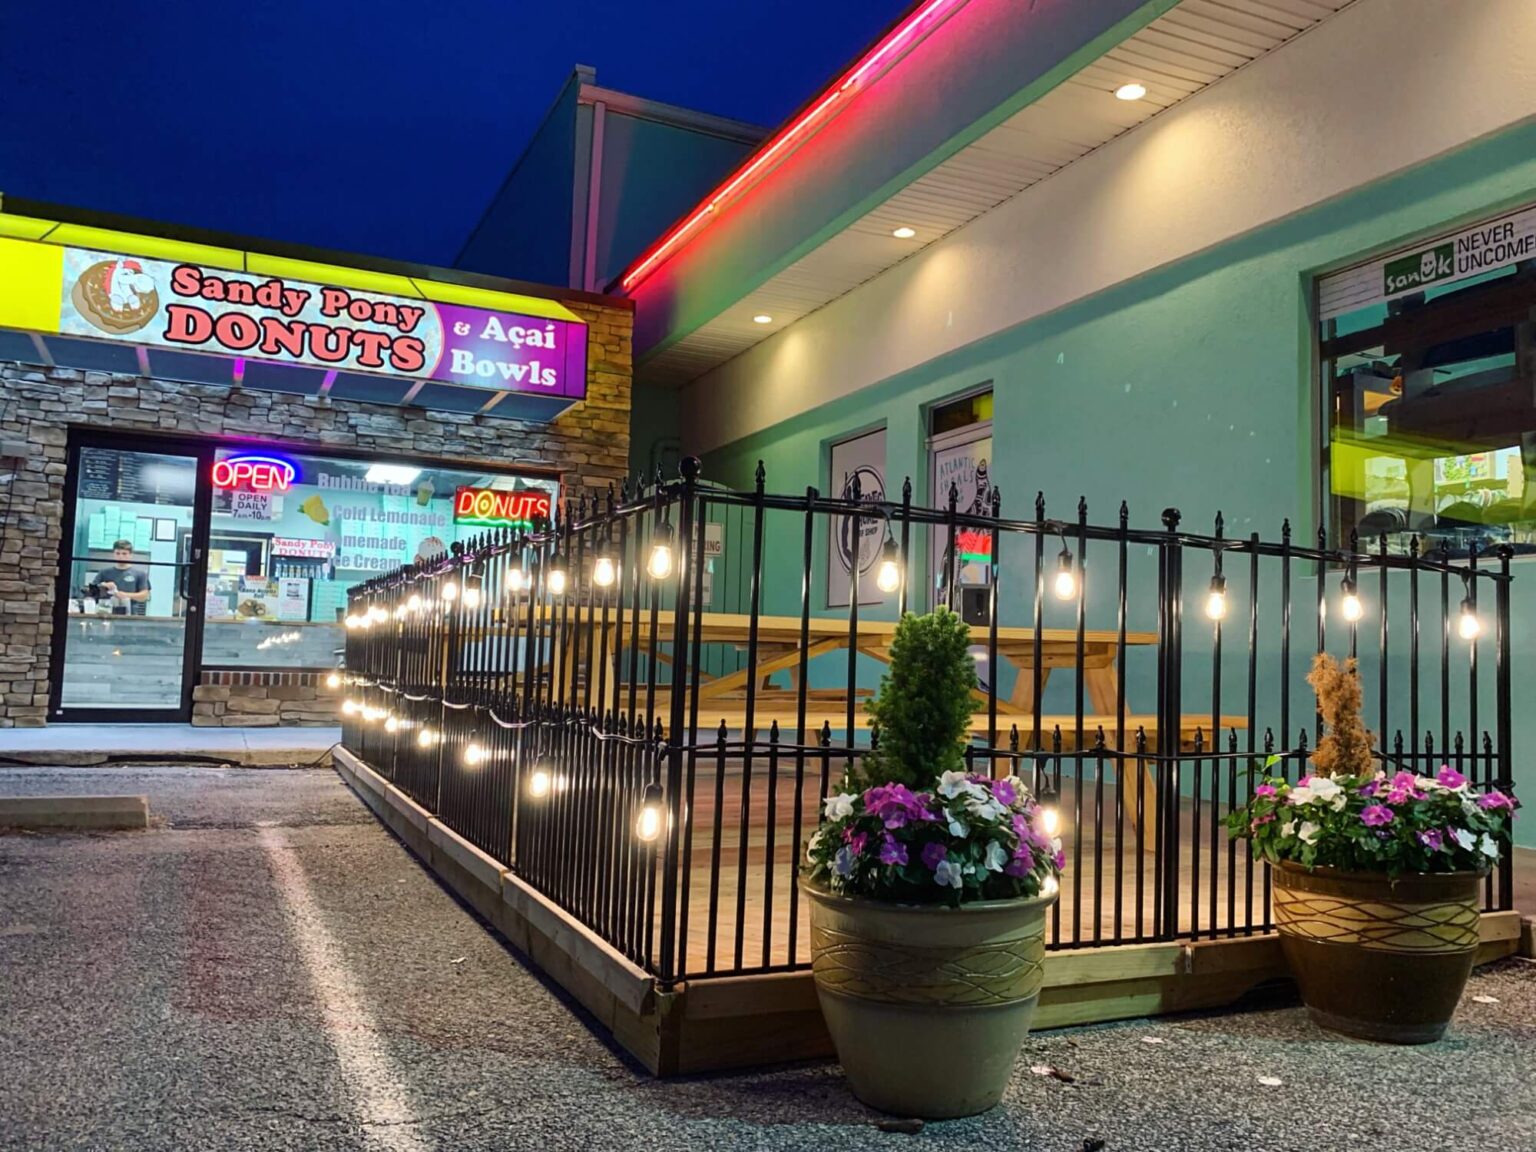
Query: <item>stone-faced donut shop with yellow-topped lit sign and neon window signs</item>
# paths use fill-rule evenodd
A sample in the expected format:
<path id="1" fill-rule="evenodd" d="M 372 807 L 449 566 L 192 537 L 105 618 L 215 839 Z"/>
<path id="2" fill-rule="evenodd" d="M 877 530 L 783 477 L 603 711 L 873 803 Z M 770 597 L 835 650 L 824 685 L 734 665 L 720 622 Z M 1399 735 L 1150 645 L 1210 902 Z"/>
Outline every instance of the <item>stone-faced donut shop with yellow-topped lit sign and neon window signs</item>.
<path id="1" fill-rule="evenodd" d="M 0 727 L 333 723 L 347 590 L 628 468 L 628 301 L 6 200 Z"/>

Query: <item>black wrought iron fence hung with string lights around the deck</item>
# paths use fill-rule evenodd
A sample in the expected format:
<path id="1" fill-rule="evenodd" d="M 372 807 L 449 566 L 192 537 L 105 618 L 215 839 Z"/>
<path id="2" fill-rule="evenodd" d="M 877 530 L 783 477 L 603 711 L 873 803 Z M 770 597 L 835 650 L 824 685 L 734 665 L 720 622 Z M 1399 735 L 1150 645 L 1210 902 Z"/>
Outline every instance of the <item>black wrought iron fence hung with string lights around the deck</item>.
<path id="1" fill-rule="evenodd" d="M 725 490 L 687 461 L 356 587 L 347 745 L 664 982 L 809 963 L 797 863 L 879 739 L 908 608 L 972 622 L 972 768 L 1060 800 L 1054 948 L 1269 928 L 1224 817 L 1264 757 L 1306 771 L 1315 651 L 1359 659 L 1382 762 L 1508 786 L 1508 553 L 1031 511 L 774 495 L 760 467 Z"/>

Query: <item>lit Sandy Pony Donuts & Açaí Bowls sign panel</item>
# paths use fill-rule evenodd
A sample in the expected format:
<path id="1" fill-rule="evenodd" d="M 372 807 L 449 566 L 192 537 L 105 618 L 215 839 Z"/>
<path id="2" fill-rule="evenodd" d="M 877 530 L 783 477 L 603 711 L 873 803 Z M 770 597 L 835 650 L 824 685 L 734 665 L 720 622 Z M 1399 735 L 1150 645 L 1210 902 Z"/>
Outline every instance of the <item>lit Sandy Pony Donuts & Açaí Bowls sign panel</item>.
<path id="1" fill-rule="evenodd" d="M 579 399 L 578 319 L 65 247 L 58 332 Z"/>

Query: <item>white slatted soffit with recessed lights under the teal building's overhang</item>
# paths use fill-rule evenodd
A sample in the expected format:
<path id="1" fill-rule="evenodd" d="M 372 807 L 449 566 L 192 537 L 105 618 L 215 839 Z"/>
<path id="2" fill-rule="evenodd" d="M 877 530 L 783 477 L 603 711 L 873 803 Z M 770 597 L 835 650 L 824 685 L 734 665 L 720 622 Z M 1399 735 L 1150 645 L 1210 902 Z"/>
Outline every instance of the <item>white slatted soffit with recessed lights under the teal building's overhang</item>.
<path id="1" fill-rule="evenodd" d="M 1272 52 L 1352 0 L 1183 0 L 710 323 L 644 361 L 679 387 L 852 292 L 1031 184 Z M 1121 84 L 1141 100 L 1117 100 Z M 911 227 L 915 237 L 892 232 Z M 770 324 L 753 318 L 773 316 Z"/>

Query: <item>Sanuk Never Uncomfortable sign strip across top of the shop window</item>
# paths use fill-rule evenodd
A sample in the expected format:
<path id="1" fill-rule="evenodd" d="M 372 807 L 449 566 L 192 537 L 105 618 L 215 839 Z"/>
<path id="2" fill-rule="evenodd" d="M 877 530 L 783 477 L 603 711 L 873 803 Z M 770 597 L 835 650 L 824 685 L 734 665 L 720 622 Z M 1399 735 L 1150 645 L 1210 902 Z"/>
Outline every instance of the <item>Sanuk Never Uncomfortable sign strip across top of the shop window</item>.
<path id="1" fill-rule="evenodd" d="M 1468 280 L 1536 258 L 1536 207 L 1439 237 L 1407 252 L 1324 276 L 1318 286 L 1322 319 L 1433 284 Z"/>

